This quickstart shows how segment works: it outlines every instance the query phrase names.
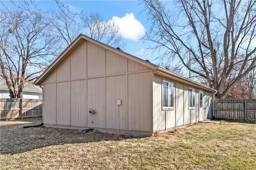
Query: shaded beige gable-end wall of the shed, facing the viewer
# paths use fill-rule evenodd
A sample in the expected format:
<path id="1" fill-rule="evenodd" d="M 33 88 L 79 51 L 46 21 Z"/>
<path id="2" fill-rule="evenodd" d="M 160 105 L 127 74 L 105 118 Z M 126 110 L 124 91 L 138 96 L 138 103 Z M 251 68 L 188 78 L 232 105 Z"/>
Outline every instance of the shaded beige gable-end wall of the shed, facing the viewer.
<path id="1" fill-rule="evenodd" d="M 120 130 L 152 132 L 152 81 L 149 67 L 85 41 L 44 81 L 44 123 L 117 129 L 119 109 Z"/>

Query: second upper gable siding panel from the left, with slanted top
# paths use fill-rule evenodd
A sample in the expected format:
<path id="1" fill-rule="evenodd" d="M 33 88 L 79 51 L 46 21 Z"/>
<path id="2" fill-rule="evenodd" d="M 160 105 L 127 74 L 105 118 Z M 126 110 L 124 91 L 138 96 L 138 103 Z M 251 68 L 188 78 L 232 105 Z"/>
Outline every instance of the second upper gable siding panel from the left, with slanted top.
<path id="1" fill-rule="evenodd" d="M 70 80 L 70 57 L 57 69 L 57 81 Z"/>

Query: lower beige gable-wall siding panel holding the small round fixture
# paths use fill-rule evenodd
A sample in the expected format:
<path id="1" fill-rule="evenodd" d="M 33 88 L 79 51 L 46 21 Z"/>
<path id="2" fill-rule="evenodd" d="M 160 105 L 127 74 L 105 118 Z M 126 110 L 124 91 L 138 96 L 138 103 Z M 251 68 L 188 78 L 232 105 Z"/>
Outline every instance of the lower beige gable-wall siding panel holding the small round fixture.
<path id="1" fill-rule="evenodd" d="M 87 80 L 87 125 L 106 128 L 106 85 L 105 78 Z M 89 109 L 96 111 L 90 114 Z"/>

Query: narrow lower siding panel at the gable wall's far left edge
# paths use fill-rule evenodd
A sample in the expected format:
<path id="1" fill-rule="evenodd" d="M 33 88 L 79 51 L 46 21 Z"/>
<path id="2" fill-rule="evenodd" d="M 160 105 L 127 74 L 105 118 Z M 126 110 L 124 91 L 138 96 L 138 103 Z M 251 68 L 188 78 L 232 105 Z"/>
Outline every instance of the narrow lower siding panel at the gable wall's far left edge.
<path id="1" fill-rule="evenodd" d="M 43 123 L 56 125 L 56 83 L 44 85 Z"/>

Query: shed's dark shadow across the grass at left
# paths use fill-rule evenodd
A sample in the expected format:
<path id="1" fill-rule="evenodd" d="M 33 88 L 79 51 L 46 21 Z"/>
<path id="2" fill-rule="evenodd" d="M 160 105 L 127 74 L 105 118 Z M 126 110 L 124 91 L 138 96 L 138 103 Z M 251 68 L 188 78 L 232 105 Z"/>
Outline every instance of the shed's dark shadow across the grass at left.
<path id="1" fill-rule="evenodd" d="M 39 125 L 42 121 L 33 123 L 6 124 L 1 123 L 0 142 L 1 154 L 18 154 L 37 148 L 52 145 L 92 143 L 100 141 L 116 141 L 135 138 L 133 136 L 115 135 L 98 131 L 79 132 L 74 129 L 46 128 L 24 126 Z"/>

